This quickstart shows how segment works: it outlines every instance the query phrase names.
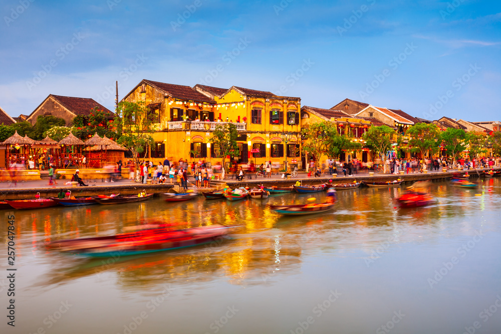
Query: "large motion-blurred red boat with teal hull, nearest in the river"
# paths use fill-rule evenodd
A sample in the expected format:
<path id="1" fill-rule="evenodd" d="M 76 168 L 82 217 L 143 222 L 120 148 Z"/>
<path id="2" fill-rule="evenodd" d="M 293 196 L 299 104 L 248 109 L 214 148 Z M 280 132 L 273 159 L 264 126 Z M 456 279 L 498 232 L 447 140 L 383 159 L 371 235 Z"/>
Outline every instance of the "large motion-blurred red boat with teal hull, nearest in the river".
<path id="1" fill-rule="evenodd" d="M 91 257 L 137 255 L 208 243 L 239 226 L 241 225 L 210 225 L 179 230 L 149 228 L 112 236 L 56 240 L 45 246 L 48 249 Z"/>

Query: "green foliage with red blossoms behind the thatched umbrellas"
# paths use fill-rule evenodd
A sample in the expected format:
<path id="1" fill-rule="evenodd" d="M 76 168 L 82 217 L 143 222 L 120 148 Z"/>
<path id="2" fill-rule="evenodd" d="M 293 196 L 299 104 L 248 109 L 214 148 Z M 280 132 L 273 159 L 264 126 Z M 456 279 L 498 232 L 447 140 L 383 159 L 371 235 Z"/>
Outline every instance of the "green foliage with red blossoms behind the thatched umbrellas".
<path id="1" fill-rule="evenodd" d="M 97 107 L 91 109 L 90 115 L 75 117 L 73 126 L 75 127 L 75 136 L 84 141 L 94 136 L 96 132 L 100 137 L 104 135 L 112 139 L 117 137 L 117 134 L 110 129 L 113 127 L 110 115 Z"/>

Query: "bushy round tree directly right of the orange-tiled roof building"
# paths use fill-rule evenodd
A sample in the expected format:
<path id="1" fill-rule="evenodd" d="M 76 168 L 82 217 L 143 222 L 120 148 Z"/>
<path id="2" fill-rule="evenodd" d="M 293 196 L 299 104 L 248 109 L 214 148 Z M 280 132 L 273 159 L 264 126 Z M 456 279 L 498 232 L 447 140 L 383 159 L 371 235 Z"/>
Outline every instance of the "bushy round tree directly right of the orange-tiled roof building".
<path id="1" fill-rule="evenodd" d="M 410 152 L 420 152 L 423 158 L 427 151 L 438 152 L 440 129 L 435 124 L 416 123 L 407 129 L 405 134 L 410 137 L 407 145 Z"/>

